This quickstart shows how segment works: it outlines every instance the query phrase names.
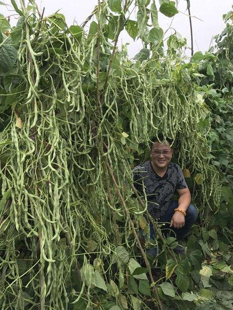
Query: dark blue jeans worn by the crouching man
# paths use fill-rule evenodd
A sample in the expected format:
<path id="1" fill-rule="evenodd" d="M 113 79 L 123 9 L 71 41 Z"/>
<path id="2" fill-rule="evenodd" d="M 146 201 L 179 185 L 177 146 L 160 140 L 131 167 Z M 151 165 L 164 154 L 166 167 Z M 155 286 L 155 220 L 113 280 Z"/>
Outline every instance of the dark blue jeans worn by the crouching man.
<path id="1" fill-rule="evenodd" d="M 170 236 L 172 237 L 175 237 L 176 235 L 176 238 L 179 240 L 179 239 L 182 239 L 184 235 L 188 233 L 191 226 L 196 222 L 198 218 L 198 210 L 195 206 L 193 206 L 192 204 L 189 204 L 186 210 L 185 224 L 182 228 L 177 229 L 174 227 L 169 227 L 172 216 L 174 214 L 174 209 L 177 207 L 178 207 L 178 202 L 172 200 L 166 214 L 161 219 L 160 223 L 165 223 L 165 222 L 169 223 L 169 224 L 166 223 L 165 226 L 162 226 L 163 235 L 167 236 L 170 234 Z M 150 239 L 153 239 L 156 233 L 154 232 L 153 225 L 151 223 L 149 224 L 149 228 L 150 228 Z M 140 235 L 142 235 L 142 230 L 140 230 L 139 233 Z M 157 248 L 148 249 L 146 250 L 146 253 L 151 254 L 155 257 L 157 255 Z"/>

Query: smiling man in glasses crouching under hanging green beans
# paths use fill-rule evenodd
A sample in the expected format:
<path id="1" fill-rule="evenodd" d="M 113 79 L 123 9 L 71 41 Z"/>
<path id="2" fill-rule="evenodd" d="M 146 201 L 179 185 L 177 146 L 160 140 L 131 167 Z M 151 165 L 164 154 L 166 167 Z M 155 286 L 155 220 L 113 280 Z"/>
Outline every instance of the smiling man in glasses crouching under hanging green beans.
<path id="1" fill-rule="evenodd" d="M 182 239 L 198 217 L 195 206 L 190 204 L 191 195 L 179 165 L 172 163 L 172 141 L 164 139 L 163 135 L 151 140 L 150 160 L 133 169 L 134 187 L 147 200 L 147 210 L 159 223 L 169 223 L 164 226 L 165 232 L 173 231 L 177 239 Z M 178 202 L 172 200 L 177 190 Z M 163 230 L 164 231 L 164 230 Z M 150 238 L 154 230 L 150 224 Z M 177 247 L 177 252 L 183 252 Z M 153 256 L 156 249 L 147 250 Z"/>

